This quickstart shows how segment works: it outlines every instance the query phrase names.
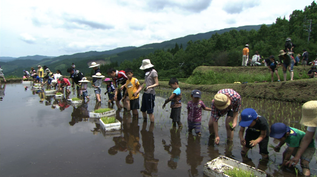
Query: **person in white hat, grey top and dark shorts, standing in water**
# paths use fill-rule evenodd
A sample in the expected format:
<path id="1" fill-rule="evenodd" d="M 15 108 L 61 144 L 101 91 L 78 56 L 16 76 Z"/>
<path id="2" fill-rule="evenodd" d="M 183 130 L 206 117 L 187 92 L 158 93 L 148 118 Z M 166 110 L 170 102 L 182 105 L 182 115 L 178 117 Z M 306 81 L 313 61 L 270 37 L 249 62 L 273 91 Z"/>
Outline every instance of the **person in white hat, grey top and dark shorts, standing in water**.
<path id="1" fill-rule="evenodd" d="M 142 84 L 134 95 L 138 95 L 143 89 L 141 109 L 143 119 L 147 119 L 147 115 L 151 122 L 154 122 L 154 101 L 155 101 L 155 91 L 154 87 L 159 86 L 159 79 L 157 78 L 157 71 L 154 69 L 154 65 L 151 64 L 149 59 L 142 60 L 142 65 L 140 67 L 145 72 L 144 84 Z"/>

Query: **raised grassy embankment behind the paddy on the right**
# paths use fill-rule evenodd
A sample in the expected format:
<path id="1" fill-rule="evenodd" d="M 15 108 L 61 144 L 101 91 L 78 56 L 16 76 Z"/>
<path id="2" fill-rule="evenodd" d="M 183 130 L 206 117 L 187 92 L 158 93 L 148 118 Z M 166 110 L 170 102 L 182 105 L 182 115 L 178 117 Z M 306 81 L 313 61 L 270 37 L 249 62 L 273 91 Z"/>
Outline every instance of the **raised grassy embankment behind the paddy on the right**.
<path id="1" fill-rule="evenodd" d="M 232 88 L 242 97 L 304 103 L 310 100 L 317 100 L 317 78 L 307 79 L 305 75 L 309 68 L 308 66 L 294 67 L 295 80 L 290 81 L 288 76 L 288 81 L 270 82 L 271 75 L 267 67 L 200 66 L 188 78 L 186 81 L 188 83 L 180 82 L 179 85 L 183 90 L 198 89 L 213 94 L 223 88 Z M 279 72 L 281 70 L 279 68 Z M 283 79 L 282 73 L 280 73 L 280 77 Z M 269 81 L 253 83 L 254 81 L 266 80 L 265 78 L 269 78 Z M 248 81 L 249 83 L 233 83 L 235 81 Z M 168 81 L 160 81 L 160 86 L 170 87 L 168 83 Z"/>

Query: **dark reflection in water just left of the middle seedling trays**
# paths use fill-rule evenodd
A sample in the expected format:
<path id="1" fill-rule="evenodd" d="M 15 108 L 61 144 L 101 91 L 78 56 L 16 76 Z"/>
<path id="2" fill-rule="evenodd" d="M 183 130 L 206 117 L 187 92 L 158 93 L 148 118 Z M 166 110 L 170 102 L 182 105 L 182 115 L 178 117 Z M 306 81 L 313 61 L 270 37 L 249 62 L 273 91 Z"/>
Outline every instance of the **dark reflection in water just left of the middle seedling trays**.
<path id="1" fill-rule="evenodd" d="M 78 122 L 82 122 L 82 121 L 87 122 L 88 121 L 88 118 L 89 118 L 88 103 L 89 103 L 89 101 L 86 103 L 83 102 L 83 104 L 78 106 L 77 108 L 74 106 L 72 107 L 73 110 L 71 113 L 71 121 L 69 122 L 70 126 L 73 126 Z M 69 106 L 69 105 L 67 105 L 67 106 Z"/>

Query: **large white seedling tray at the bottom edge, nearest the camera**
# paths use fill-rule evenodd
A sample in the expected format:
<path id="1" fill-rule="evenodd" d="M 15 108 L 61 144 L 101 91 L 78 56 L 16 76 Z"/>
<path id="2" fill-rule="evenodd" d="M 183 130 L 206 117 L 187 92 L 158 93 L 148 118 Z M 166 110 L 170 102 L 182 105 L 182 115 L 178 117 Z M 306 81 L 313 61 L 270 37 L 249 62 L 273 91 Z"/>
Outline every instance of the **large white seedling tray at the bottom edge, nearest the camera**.
<path id="1" fill-rule="evenodd" d="M 252 171 L 254 175 L 258 177 L 272 176 L 271 174 L 268 174 L 260 169 L 225 156 L 218 156 L 217 158 L 204 164 L 203 171 L 205 175 L 210 177 L 230 177 L 229 175 L 225 174 L 224 171 L 227 169 L 233 169 L 234 167 L 239 168 L 239 170 Z"/>

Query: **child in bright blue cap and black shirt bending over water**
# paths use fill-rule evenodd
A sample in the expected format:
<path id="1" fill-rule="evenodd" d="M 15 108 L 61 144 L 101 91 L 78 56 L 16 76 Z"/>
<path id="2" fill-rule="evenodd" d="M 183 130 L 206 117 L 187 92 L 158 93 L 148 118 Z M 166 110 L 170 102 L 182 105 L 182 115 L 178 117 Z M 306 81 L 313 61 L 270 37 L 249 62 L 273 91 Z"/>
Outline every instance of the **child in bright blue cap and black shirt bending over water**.
<path id="1" fill-rule="evenodd" d="M 239 137 L 241 145 L 243 145 L 241 155 L 246 157 L 249 149 L 259 144 L 262 159 L 269 159 L 268 144 L 270 128 L 265 117 L 259 116 L 254 109 L 247 108 L 241 112 L 239 125 L 241 126 Z M 245 138 L 243 138 L 246 127 L 248 127 L 248 129 Z"/>

